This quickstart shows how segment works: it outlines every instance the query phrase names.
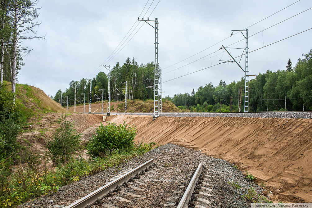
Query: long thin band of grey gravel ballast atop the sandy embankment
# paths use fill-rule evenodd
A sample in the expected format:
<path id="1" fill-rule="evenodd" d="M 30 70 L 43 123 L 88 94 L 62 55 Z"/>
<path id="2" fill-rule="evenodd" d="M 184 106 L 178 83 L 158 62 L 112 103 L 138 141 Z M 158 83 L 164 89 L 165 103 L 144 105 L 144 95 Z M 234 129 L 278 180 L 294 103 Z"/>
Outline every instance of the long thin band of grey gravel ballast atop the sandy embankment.
<path id="1" fill-rule="evenodd" d="M 113 115 L 115 113 L 112 113 Z M 124 113 L 117 113 L 124 114 Z M 126 113 L 130 115 L 150 115 L 153 113 Z M 177 117 L 247 117 L 247 118 L 281 118 L 281 119 L 312 119 L 312 112 L 252 112 L 252 113 L 160 113 L 159 116 L 177 116 Z"/>

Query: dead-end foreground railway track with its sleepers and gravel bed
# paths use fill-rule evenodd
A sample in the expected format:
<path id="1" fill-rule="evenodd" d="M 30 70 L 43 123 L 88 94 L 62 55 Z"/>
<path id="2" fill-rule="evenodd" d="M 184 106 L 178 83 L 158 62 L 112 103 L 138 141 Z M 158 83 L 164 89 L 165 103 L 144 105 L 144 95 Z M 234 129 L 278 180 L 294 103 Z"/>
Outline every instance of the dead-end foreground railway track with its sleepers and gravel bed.
<path id="1" fill-rule="evenodd" d="M 108 184 L 115 183 L 118 178 L 146 163 L 150 158 L 155 158 L 154 165 L 140 175 L 132 174 L 126 184 L 123 179 L 117 184 L 118 187 L 111 187 L 102 196 L 90 194 L 98 193 L 103 187 L 107 188 Z M 199 164 L 202 171 L 201 167 L 198 167 Z M 193 181 L 192 185 L 190 181 Z M 232 183 L 241 187 L 235 189 L 231 186 Z M 123 185 L 120 186 L 121 184 Z M 192 186 L 193 190 L 189 188 Z M 85 201 L 85 204 L 77 207 L 174 208 L 185 199 L 184 206 L 190 204 L 197 208 L 240 208 L 250 207 L 250 202 L 242 197 L 250 188 L 261 191 L 255 184 L 246 181 L 241 172 L 230 163 L 206 156 L 199 151 L 167 144 L 94 176 L 81 178 L 80 181 L 61 187 L 57 192 L 41 196 L 19 207 L 75 207 L 72 204 L 84 201 L 82 199 L 86 199 L 87 195 L 94 195 L 93 200 Z M 183 197 L 185 192 L 188 194 Z"/>

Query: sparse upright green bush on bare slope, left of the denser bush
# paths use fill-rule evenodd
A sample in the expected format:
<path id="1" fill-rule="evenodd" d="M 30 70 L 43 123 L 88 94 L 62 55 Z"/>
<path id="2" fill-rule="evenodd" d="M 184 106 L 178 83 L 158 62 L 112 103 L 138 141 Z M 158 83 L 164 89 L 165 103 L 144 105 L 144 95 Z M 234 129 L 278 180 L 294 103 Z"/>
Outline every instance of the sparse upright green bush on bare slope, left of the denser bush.
<path id="1" fill-rule="evenodd" d="M 66 115 L 62 115 L 57 123 L 60 125 L 53 134 L 53 141 L 48 142 L 49 155 L 55 163 L 69 161 L 80 143 L 80 134 L 76 132 L 74 123 L 65 121 Z"/>

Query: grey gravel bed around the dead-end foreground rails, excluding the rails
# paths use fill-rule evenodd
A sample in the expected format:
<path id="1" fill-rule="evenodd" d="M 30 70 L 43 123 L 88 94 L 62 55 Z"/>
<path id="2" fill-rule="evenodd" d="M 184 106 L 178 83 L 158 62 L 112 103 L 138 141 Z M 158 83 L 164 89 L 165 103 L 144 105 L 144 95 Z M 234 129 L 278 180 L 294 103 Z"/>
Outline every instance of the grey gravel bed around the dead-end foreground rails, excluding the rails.
<path id="1" fill-rule="evenodd" d="M 29 201 L 19 207 L 64 207 L 73 201 L 82 198 L 88 193 L 105 185 L 118 173 L 139 166 L 154 158 L 156 166 L 141 175 L 139 179 L 123 186 L 120 191 L 113 192 L 103 202 L 116 207 L 165 207 L 168 203 L 176 201 L 187 187 L 199 162 L 206 167 L 209 175 L 209 207 L 250 207 L 250 202 L 241 197 L 251 188 L 261 191 L 259 186 L 246 181 L 240 171 L 229 162 L 206 156 L 198 151 L 166 144 L 146 154 L 117 167 L 107 169 L 91 177 L 61 187 L 56 193 L 42 196 Z M 231 184 L 238 184 L 241 188 L 235 189 Z M 122 197 L 124 201 L 120 199 Z M 92 207 L 98 207 L 96 205 Z M 104 207 L 104 206 L 102 206 Z"/>

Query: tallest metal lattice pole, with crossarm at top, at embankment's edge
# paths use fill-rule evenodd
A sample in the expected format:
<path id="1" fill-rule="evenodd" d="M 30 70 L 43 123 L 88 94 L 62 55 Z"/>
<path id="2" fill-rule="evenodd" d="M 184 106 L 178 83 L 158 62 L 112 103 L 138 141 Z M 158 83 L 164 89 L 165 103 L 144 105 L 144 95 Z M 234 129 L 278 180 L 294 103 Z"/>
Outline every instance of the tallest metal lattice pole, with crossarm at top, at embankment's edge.
<path id="1" fill-rule="evenodd" d="M 159 101 L 161 100 L 161 94 L 159 89 L 161 89 L 161 70 L 159 70 L 159 64 L 158 64 L 158 18 L 155 18 L 155 20 L 140 20 L 139 21 L 144 21 L 147 24 L 149 22 L 155 22 L 155 27 L 149 24 L 151 27 L 155 29 L 155 57 L 154 57 L 154 115 L 153 115 L 153 120 L 156 119 L 156 117 L 159 116 Z"/>

